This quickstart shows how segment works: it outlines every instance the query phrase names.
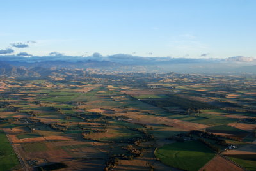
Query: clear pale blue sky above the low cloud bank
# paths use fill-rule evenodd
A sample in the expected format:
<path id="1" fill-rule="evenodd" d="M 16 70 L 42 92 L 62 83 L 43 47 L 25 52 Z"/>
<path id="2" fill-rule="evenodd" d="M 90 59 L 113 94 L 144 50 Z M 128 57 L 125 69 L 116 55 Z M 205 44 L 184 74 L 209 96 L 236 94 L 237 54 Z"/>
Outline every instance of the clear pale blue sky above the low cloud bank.
<path id="1" fill-rule="evenodd" d="M 256 57 L 254 0 L 0 2 L 0 54 Z"/>

